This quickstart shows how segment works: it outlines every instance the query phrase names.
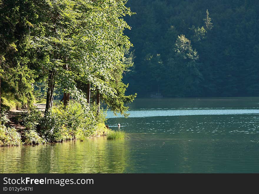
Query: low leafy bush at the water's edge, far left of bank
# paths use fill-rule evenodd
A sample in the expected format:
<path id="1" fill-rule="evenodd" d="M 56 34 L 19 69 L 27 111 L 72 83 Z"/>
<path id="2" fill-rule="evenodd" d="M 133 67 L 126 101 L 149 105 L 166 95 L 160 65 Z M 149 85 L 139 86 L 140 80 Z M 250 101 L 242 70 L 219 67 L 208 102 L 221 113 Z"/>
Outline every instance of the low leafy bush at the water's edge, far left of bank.
<path id="1" fill-rule="evenodd" d="M 14 127 L 0 125 L 0 146 L 20 146 L 21 136 Z"/>

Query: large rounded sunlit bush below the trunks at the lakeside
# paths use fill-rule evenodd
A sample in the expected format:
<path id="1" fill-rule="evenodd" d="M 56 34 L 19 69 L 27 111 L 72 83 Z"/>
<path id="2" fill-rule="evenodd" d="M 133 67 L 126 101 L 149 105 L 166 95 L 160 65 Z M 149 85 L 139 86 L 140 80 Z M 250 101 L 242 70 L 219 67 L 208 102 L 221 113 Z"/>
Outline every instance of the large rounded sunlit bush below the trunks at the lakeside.
<path id="1" fill-rule="evenodd" d="M 97 107 L 84 107 L 78 102 L 52 107 L 40 121 L 39 133 L 50 142 L 60 142 L 92 136 L 97 123 L 104 123 L 105 116 L 97 115 Z"/>

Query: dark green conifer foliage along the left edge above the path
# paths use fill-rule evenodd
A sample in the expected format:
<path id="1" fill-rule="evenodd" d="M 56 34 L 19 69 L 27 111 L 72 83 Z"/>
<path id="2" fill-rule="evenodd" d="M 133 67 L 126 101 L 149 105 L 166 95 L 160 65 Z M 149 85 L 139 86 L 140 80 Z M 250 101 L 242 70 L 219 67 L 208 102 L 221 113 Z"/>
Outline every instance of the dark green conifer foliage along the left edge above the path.
<path id="1" fill-rule="evenodd" d="M 34 102 L 34 71 L 29 68 L 30 29 L 38 16 L 32 1 L 2 1 L 0 4 L 0 72 L 2 96 L 22 106 Z"/>

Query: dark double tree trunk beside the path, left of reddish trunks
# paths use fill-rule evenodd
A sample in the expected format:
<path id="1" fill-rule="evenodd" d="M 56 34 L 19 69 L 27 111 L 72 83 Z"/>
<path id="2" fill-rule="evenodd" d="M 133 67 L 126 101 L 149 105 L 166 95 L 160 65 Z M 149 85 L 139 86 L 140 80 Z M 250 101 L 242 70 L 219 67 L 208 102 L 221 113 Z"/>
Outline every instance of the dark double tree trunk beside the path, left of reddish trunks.
<path id="1" fill-rule="evenodd" d="M 57 70 L 49 70 L 49 77 L 48 77 L 48 91 L 47 91 L 47 99 L 46 99 L 46 108 L 45 113 L 48 112 L 49 109 L 52 108 L 53 105 L 53 91 L 54 91 L 54 76 Z"/>

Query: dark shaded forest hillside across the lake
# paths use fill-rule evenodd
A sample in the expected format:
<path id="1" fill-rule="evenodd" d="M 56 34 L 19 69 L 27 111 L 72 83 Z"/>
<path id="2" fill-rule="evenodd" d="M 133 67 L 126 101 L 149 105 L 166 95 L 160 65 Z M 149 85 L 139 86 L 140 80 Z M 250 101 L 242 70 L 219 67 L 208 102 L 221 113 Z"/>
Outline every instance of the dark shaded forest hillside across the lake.
<path id="1" fill-rule="evenodd" d="M 128 92 L 150 97 L 258 96 L 255 1 L 129 0 L 135 65 Z M 207 11 L 208 10 L 208 11 Z"/>

